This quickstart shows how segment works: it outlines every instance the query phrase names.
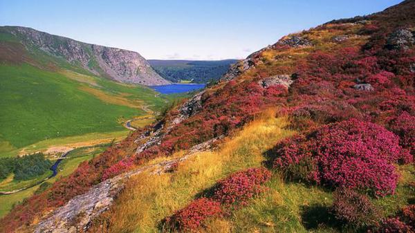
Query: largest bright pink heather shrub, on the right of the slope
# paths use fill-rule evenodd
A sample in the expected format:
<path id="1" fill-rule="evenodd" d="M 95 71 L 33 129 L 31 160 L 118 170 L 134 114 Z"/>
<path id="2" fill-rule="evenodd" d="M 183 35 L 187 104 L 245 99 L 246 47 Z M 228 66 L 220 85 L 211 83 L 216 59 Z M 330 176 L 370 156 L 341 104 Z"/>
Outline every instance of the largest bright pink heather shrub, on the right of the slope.
<path id="1" fill-rule="evenodd" d="M 412 161 L 394 133 L 356 119 L 285 140 L 275 147 L 275 157 L 273 167 L 287 177 L 362 189 L 376 196 L 394 193 L 395 162 Z"/>

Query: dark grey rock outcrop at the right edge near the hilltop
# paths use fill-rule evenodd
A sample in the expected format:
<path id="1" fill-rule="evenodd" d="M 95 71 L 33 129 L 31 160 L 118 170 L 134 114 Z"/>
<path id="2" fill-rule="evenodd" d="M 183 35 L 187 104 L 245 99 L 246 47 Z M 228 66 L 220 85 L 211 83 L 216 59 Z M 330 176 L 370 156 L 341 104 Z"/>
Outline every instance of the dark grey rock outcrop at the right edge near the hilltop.
<path id="1" fill-rule="evenodd" d="M 415 45 L 415 31 L 409 29 L 396 30 L 387 39 L 387 48 L 407 50 Z"/>

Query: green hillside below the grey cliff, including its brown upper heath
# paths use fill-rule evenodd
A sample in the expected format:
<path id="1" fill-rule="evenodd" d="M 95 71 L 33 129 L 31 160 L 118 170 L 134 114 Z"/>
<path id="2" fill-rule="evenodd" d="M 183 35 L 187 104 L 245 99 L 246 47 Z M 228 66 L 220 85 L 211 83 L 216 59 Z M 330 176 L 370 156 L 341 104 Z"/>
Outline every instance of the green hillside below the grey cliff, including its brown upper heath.
<path id="1" fill-rule="evenodd" d="M 65 138 L 74 143 L 73 136 L 87 135 L 79 142 L 126 136 L 123 122 L 154 119 L 178 97 L 98 77 L 76 60 L 68 62 L 0 29 L 0 157 L 28 151 L 37 142 L 55 146 L 53 138 L 64 145 Z"/>

